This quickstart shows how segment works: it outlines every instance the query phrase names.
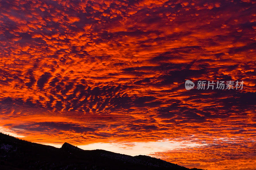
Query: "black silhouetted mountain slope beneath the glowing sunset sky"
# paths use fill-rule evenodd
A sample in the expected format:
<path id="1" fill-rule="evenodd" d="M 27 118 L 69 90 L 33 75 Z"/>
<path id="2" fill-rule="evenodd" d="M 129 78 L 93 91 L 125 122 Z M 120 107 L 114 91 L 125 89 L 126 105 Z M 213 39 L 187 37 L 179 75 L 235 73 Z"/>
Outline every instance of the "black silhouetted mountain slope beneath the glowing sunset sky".
<path id="1" fill-rule="evenodd" d="M 61 148 L 55 148 L 0 133 L 0 169 L 185 170 L 189 168 L 144 155 L 129 156 L 99 149 L 82 150 L 68 143 L 64 143 Z M 193 168 L 193 170 L 199 169 Z"/>

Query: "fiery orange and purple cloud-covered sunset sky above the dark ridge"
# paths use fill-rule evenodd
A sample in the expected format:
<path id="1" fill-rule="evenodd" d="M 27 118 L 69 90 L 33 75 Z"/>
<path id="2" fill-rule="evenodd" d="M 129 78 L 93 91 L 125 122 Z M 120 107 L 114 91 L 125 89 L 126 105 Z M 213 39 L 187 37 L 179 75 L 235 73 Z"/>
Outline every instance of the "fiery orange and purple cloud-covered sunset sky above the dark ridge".
<path id="1" fill-rule="evenodd" d="M 254 0 L 0 1 L 0 131 L 28 141 L 253 170 L 255 68 Z"/>

